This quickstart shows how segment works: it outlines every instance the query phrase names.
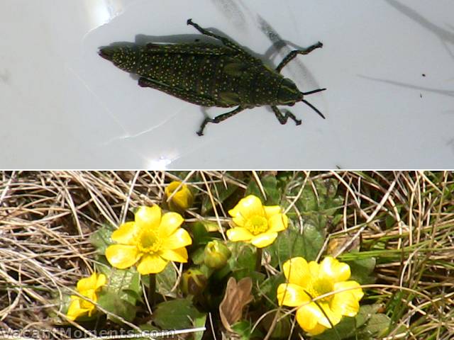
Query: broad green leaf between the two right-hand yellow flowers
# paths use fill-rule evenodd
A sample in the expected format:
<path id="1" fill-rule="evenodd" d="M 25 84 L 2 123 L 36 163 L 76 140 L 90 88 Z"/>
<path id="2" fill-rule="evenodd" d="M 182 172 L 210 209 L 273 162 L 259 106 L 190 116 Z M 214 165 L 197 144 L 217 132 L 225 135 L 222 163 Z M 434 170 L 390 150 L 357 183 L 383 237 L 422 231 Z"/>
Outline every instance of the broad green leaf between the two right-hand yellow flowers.
<path id="1" fill-rule="evenodd" d="M 313 225 L 304 225 L 302 234 L 292 227 L 279 232 L 276 241 L 265 250 L 271 255 L 270 264 L 277 266 L 297 256 L 314 261 L 322 246 L 322 232 Z"/>

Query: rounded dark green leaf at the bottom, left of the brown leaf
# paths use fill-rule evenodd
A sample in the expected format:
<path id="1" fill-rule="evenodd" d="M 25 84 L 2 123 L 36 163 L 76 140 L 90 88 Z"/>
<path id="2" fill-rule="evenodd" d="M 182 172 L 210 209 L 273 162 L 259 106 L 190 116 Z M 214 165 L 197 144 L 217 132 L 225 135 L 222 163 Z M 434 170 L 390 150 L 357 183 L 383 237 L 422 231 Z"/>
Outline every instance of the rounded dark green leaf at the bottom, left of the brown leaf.
<path id="1" fill-rule="evenodd" d="M 153 321 L 161 329 L 184 329 L 195 327 L 205 314 L 192 305 L 188 299 L 161 302 L 153 314 Z"/>

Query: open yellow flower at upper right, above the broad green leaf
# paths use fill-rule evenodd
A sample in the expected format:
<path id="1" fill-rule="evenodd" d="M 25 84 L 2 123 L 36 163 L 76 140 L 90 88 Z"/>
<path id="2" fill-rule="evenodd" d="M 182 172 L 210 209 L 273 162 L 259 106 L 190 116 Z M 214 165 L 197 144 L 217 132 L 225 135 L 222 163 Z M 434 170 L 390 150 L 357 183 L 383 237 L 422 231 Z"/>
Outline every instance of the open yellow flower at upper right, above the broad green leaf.
<path id="1" fill-rule="evenodd" d="M 287 229 L 288 218 L 279 205 L 262 205 L 257 196 L 247 196 L 228 212 L 233 225 L 227 237 L 233 242 L 244 241 L 258 248 L 275 241 L 277 232 Z"/>

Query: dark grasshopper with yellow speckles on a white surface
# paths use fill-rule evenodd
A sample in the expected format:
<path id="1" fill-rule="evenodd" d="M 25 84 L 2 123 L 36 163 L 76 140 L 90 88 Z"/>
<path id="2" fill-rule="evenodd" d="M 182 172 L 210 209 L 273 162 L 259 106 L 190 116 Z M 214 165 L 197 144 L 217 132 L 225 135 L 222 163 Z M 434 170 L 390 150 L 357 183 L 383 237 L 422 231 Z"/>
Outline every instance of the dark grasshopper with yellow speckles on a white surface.
<path id="1" fill-rule="evenodd" d="M 321 42 L 304 50 L 289 52 L 276 69 L 271 69 L 228 38 L 201 28 L 192 19 L 187 24 L 201 34 L 221 40 L 223 45 L 190 42 L 107 46 L 100 48 L 99 55 L 116 67 L 140 76 L 138 84 L 141 87 L 157 89 L 200 106 L 236 107 L 214 118 L 205 118 L 197 131 L 199 136 L 204 134 L 208 123 L 221 123 L 246 108 L 256 106 L 270 106 L 281 124 L 287 123 L 289 118 L 296 125 L 301 124 L 293 113 L 282 113 L 277 108 L 278 105 L 293 106 L 299 101 L 325 118 L 304 96 L 326 89 L 301 92 L 292 80 L 280 74 L 294 57 L 322 47 Z"/>

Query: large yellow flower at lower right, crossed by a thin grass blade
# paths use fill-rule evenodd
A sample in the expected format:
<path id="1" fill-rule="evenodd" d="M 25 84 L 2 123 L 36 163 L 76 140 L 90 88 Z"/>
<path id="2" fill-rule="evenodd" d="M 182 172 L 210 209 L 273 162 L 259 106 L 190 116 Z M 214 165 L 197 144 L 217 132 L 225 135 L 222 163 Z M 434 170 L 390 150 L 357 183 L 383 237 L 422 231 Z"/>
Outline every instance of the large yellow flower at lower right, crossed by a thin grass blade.
<path id="1" fill-rule="evenodd" d="M 309 335 L 321 334 L 341 321 L 343 315 L 354 317 L 360 309 L 362 289 L 350 280 L 350 266 L 327 256 L 321 263 L 294 257 L 284 263 L 288 283 L 277 288 L 279 305 L 299 307 L 297 322 Z M 336 292 L 316 302 L 312 298 Z M 322 311 L 323 310 L 323 311 Z M 328 321 L 329 319 L 329 321 Z"/>

